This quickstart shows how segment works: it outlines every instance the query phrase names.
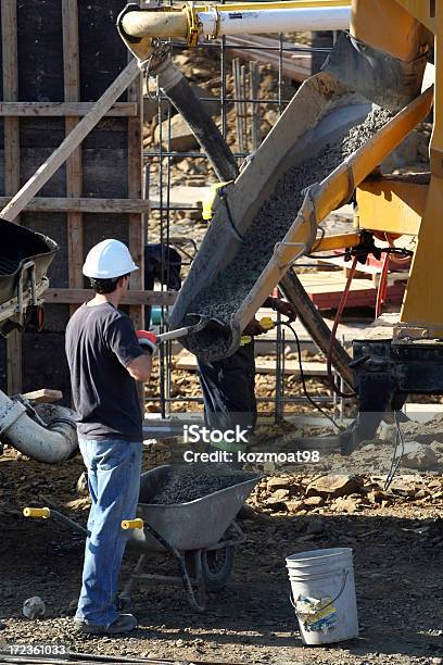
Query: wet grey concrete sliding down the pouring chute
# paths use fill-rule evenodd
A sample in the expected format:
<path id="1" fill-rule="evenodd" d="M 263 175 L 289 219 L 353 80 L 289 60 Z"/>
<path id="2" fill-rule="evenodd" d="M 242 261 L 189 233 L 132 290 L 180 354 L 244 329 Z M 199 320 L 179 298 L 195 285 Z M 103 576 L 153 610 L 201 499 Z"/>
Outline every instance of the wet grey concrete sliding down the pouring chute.
<path id="1" fill-rule="evenodd" d="M 341 141 L 326 146 L 317 156 L 287 171 L 244 235 L 241 251 L 223 274 L 200 291 L 189 305 L 189 311 L 228 325 L 269 261 L 275 243 L 284 237 L 295 219 L 303 201 L 303 190 L 327 177 L 390 117 L 392 114 L 388 111 L 372 111 L 364 123 L 352 127 Z M 219 355 L 220 344 L 224 343 L 223 338 L 213 332 L 188 336 L 187 341 L 189 349 L 203 357 L 211 355 L 212 350 Z"/>

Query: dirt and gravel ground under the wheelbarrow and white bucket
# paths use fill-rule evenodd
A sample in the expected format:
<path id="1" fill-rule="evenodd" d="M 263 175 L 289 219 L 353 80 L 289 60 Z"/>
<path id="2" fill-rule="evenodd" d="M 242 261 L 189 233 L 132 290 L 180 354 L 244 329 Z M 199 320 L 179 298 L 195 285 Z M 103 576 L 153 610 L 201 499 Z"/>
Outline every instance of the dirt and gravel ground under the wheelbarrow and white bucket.
<path id="1" fill-rule="evenodd" d="M 256 512 L 241 522 L 248 538 L 237 552 L 229 585 L 210 594 L 205 614 L 189 608 L 180 588 L 139 587 L 139 628 L 130 637 L 99 639 L 79 637 L 72 628 L 81 539 L 51 520 L 21 515 L 24 505 L 45 504 L 85 523 L 88 500 L 75 489 L 81 470 L 79 457 L 59 467 L 29 462 L 11 450 L 0 457 L 0 643 L 65 643 L 77 652 L 113 654 L 115 662 L 138 655 L 180 663 L 443 663 L 443 480 L 436 472 L 416 474 L 413 491 L 393 492 L 382 503 L 356 502 L 353 513 L 340 510 L 339 500 L 299 513 L 281 505 L 275 510 L 264 480 L 251 501 Z M 309 480 L 284 476 L 290 492 Z M 370 480 L 365 477 L 364 485 Z M 330 547 L 354 550 L 360 637 L 303 647 L 284 557 Z M 123 578 L 135 562 L 126 555 Z M 147 567 L 164 566 L 170 568 L 165 557 L 152 557 Z M 22 615 L 31 595 L 43 599 L 43 619 Z"/>

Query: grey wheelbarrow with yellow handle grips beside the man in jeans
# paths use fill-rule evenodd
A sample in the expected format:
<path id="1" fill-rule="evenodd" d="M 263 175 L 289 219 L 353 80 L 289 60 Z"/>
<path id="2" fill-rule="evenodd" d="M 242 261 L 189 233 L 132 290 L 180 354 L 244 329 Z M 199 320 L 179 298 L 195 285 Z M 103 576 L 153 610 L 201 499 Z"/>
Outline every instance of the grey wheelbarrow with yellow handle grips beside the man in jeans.
<path id="1" fill-rule="evenodd" d="M 235 518 L 263 476 L 244 474 L 250 478 L 186 503 L 151 503 L 175 469 L 169 464 L 142 474 L 137 517 L 122 522 L 123 529 L 131 530 L 128 548 L 140 554 L 118 595 L 123 611 L 131 608 L 131 592 L 137 582 L 161 581 L 182 584 L 190 605 L 204 612 L 206 592 L 219 592 L 225 588 L 232 570 L 235 548 L 244 541 Z M 25 517 L 53 517 L 87 536 L 83 526 L 59 511 L 26 507 L 23 514 Z M 148 553 L 169 554 L 177 562 L 179 575 L 143 573 Z"/>

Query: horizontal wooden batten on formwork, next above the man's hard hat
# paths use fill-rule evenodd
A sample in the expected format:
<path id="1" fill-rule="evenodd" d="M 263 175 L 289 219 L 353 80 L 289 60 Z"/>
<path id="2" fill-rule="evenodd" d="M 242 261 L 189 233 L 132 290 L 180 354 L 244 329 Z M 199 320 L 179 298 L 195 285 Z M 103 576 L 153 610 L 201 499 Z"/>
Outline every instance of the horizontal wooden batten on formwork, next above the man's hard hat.
<path id="1" fill-rule="evenodd" d="M 12 197 L 0 197 L 0 208 Z M 147 213 L 151 210 L 147 199 L 88 199 L 81 197 L 37 197 L 24 209 L 26 212 L 81 212 L 81 213 Z"/>

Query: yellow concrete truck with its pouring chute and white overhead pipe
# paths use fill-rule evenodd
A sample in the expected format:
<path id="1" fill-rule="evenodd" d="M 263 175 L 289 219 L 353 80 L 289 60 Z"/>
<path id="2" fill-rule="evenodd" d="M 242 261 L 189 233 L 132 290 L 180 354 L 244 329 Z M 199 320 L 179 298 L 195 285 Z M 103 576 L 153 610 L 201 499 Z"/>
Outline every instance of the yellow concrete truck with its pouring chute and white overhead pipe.
<path id="1" fill-rule="evenodd" d="M 321 16 L 322 23 L 318 23 Z M 317 22 L 316 22 L 317 21 Z M 283 23 L 282 23 L 283 22 Z M 340 128 L 356 125 L 374 102 L 391 111 L 384 126 L 321 181 L 312 184 L 299 214 L 276 244 L 266 265 L 232 313 L 229 325 L 214 318 L 214 329 L 200 335 L 216 339 L 218 356 L 238 348 L 241 330 L 261 302 L 288 277 L 295 258 L 315 250 L 362 247 L 368 231 L 417 236 L 407 292 L 394 336 L 355 340 L 354 357 L 346 362 L 334 344 L 333 364 L 356 391 L 360 417 L 349 432 L 350 441 L 371 436 L 382 413 L 400 407 L 409 392 L 443 394 L 443 300 L 439 298 L 443 271 L 443 7 L 438 0 L 311 0 L 273 3 L 195 4 L 139 11 L 128 5 L 119 30 L 128 48 L 155 72 L 162 39 L 181 38 L 195 46 L 203 38 L 249 32 L 343 29 L 326 64 L 300 88 L 288 109 L 235 183 L 218 190 L 214 219 L 190 271 L 172 315 L 173 327 L 192 318 L 203 285 L 223 279 L 241 252 L 251 228 L 278 177 L 300 155 L 318 154 Z M 284 27 L 283 27 L 284 26 Z M 328 27 L 325 27 L 328 26 Z M 434 53 L 433 89 L 421 91 L 429 54 Z M 363 96 L 363 97 L 362 97 Z M 366 100 L 366 106 L 365 106 Z M 381 161 L 425 120 L 433 103 L 434 125 L 430 146 L 430 174 L 420 177 L 379 177 Z M 299 161 L 298 161 L 299 160 Z M 369 177 L 370 176 L 370 177 Z M 231 179 L 230 174 L 225 177 Z M 317 225 L 356 191 L 357 228 L 344 236 L 317 239 Z M 229 219 L 230 225 L 226 224 Z M 269 222 L 271 223 L 271 222 Z M 230 226 L 230 228 L 229 228 Z M 370 251 L 370 250 L 368 250 Z M 292 279 L 295 277 L 292 275 Z M 286 280 L 286 281 L 284 281 Z M 301 318 L 321 339 L 329 331 L 320 316 L 307 311 L 296 281 L 289 288 Z M 195 311 L 195 312 L 194 312 Z M 218 328 L 217 328 L 218 324 Z M 223 324 L 223 325 L 219 325 Z M 321 331 L 319 331 L 321 329 Z M 218 338 L 217 338 L 218 335 Z M 317 337 L 316 337 L 317 336 Z M 438 340 L 438 341 L 435 341 Z M 193 349 L 193 340 L 185 342 Z M 215 351 L 213 356 L 216 357 Z M 349 359 L 347 359 L 349 361 Z"/>

